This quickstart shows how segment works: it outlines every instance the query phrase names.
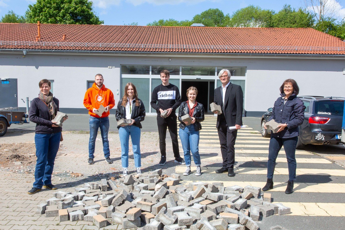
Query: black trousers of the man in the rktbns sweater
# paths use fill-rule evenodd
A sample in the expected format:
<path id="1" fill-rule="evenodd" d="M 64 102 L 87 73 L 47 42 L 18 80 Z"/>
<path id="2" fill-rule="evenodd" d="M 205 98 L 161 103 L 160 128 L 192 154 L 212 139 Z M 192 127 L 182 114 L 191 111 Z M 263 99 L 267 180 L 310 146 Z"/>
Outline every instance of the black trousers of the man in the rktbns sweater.
<path id="1" fill-rule="evenodd" d="M 159 149 L 162 157 L 166 157 L 166 144 L 165 139 L 167 136 L 167 128 L 169 129 L 171 142 L 172 142 L 172 151 L 174 152 L 174 157 L 180 157 L 180 151 L 178 149 L 177 141 L 177 117 L 176 114 L 171 114 L 167 118 L 162 118 L 157 116 L 157 125 L 158 125 L 158 134 L 159 134 Z"/>

